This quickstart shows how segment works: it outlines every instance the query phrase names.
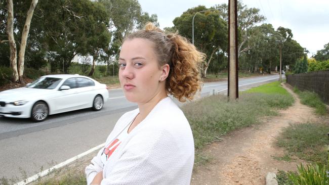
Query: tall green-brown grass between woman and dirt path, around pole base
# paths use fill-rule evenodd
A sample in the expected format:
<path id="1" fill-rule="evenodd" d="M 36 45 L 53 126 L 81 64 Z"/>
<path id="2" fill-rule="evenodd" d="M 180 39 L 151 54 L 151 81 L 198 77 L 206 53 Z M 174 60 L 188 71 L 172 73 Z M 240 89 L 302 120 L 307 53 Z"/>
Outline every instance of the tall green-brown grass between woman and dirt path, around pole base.
<path id="1" fill-rule="evenodd" d="M 284 95 L 242 94 L 237 102 L 227 102 L 226 96 L 217 95 L 192 102 L 182 110 L 199 150 L 228 131 L 256 124 L 261 116 L 276 115 L 272 108 L 285 108 L 293 102 L 292 97 Z"/>

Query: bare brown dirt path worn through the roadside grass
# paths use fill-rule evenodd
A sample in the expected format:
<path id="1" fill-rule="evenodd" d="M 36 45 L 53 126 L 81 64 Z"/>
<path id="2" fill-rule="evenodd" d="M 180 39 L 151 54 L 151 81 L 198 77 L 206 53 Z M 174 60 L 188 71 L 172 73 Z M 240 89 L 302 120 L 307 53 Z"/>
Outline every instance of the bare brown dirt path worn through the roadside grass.
<path id="1" fill-rule="evenodd" d="M 223 137 L 222 142 L 209 145 L 204 154 L 212 157 L 210 164 L 196 167 L 191 184 L 265 184 L 268 172 L 296 170 L 301 161 L 284 162 L 273 159 L 282 157 L 282 149 L 274 145 L 275 137 L 290 123 L 319 121 L 313 109 L 302 105 L 294 92 L 287 89 L 295 104 L 280 110 L 280 116 L 262 119 L 262 124 L 235 130 Z"/>

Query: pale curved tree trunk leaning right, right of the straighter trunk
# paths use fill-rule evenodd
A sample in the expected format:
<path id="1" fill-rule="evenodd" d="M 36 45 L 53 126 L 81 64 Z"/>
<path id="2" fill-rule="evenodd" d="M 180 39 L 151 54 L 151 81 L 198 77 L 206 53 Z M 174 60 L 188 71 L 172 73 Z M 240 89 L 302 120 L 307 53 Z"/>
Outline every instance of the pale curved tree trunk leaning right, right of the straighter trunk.
<path id="1" fill-rule="evenodd" d="M 24 83 L 23 73 L 24 73 L 24 56 L 25 56 L 26 41 L 27 41 L 28 32 L 30 30 L 30 24 L 31 24 L 33 12 L 37 2 L 38 0 L 32 0 L 31 6 L 27 11 L 25 25 L 22 31 L 21 47 L 18 54 L 18 73 L 19 73 L 20 83 Z"/>

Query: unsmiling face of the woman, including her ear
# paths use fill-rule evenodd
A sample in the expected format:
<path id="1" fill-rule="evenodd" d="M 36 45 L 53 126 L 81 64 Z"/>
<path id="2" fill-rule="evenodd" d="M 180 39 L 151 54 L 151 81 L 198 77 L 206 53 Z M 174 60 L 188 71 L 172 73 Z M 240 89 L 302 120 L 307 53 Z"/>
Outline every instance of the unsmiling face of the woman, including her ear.
<path id="1" fill-rule="evenodd" d="M 119 80 L 128 101 L 147 103 L 152 98 L 163 95 L 166 92 L 165 78 L 168 72 L 168 65 L 159 68 L 153 42 L 133 38 L 122 44 Z"/>

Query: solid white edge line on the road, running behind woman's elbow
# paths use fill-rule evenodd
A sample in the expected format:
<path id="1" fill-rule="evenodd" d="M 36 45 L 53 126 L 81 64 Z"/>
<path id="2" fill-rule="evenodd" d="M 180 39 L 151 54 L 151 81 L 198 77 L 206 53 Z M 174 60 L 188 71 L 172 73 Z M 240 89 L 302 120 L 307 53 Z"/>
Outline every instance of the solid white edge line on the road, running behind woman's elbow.
<path id="1" fill-rule="evenodd" d="M 94 148 L 92 148 L 92 149 L 90 149 L 90 150 L 88 150 L 88 151 L 86 151 L 86 152 L 84 152 L 82 154 L 79 154 L 77 156 L 74 156 L 74 157 L 72 157 L 72 158 L 70 158 L 70 159 L 68 159 L 68 160 L 66 160 L 66 161 L 64 161 L 62 163 L 59 163 L 59 164 L 57 164 L 57 165 L 55 165 L 55 166 L 53 166 L 53 167 L 51 167 L 49 169 L 46 169 L 46 170 L 44 170 L 42 172 L 39 172 L 39 173 L 37 173 L 37 174 L 35 174 L 35 175 L 31 176 L 31 177 L 28 177 L 25 180 L 22 180 L 22 181 L 20 181 L 18 183 L 15 183 L 15 185 L 25 185 L 25 184 L 28 184 L 30 182 L 33 182 L 34 180 L 37 180 L 38 178 L 41 178 L 41 177 L 44 177 L 44 176 L 48 175 L 50 172 L 52 172 L 55 169 L 61 168 L 63 166 L 66 166 L 66 165 L 74 162 L 75 160 L 80 159 L 81 157 L 84 157 L 84 156 L 86 156 L 86 155 L 88 155 L 88 154 L 90 154 L 92 152 L 95 152 L 97 150 L 100 150 L 104 146 L 105 146 L 105 143 L 100 144 L 99 146 L 94 147 Z"/>

